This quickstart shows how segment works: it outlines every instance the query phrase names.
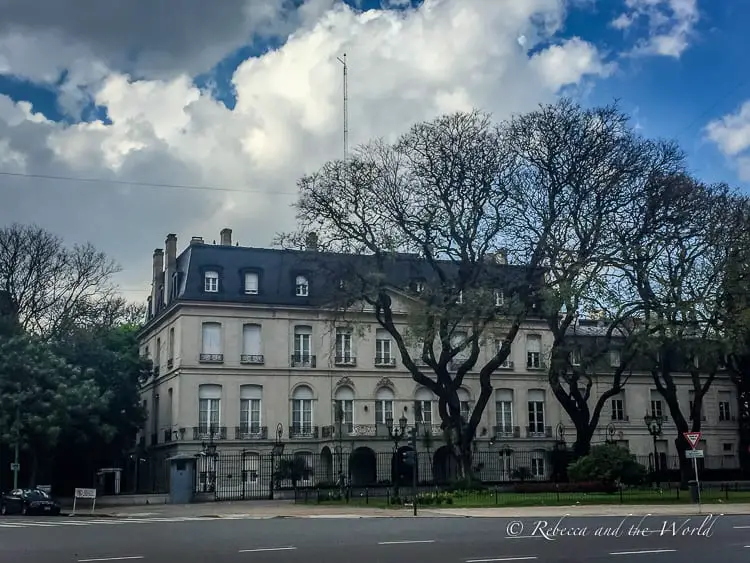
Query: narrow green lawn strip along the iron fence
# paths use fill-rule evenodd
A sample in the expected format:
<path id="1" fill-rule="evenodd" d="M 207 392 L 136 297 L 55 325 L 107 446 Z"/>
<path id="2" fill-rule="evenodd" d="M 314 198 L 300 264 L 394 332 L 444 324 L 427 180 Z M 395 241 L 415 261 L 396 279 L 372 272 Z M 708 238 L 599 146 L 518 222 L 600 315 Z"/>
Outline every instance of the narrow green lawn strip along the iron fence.
<path id="1" fill-rule="evenodd" d="M 403 493 L 409 497 L 409 491 Z M 428 495 L 424 495 L 428 496 Z M 569 506 L 572 504 L 689 504 L 690 493 L 688 491 L 671 490 L 624 490 L 620 493 L 506 493 L 493 491 L 483 492 L 454 492 L 441 493 L 442 502 L 420 503 L 425 508 L 490 508 L 490 507 L 528 507 L 528 506 Z M 450 499 L 452 502 L 448 502 Z M 750 502 L 750 491 L 726 491 L 706 489 L 702 492 L 701 500 L 704 503 L 735 503 Z M 305 503 L 301 496 L 297 502 Z M 321 505 L 345 505 L 345 500 L 322 499 L 317 502 L 315 493 L 309 494 L 307 504 Z M 350 506 L 370 506 L 374 508 L 400 508 L 398 505 L 389 505 L 388 498 L 383 496 L 354 496 L 348 504 Z"/>

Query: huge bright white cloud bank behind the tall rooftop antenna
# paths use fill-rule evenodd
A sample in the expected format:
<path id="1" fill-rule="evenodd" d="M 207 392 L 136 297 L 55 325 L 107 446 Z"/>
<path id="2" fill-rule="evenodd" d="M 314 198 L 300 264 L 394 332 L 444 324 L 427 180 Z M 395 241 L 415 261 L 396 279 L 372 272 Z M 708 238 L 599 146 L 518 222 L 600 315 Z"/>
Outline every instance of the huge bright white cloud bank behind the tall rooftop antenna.
<path id="1" fill-rule="evenodd" d="M 392 138 L 447 111 L 480 107 L 507 117 L 611 70 L 593 45 L 554 39 L 564 22 L 562 0 L 426 0 L 418 9 L 366 13 L 315 0 L 304 9 L 304 23 L 282 47 L 237 68 L 233 110 L 187 73 L 137 79 L 114 70 L 112 57 L 89 59 L 98 71 L 81 71 L 85 85 L 69 97 L 72 105 L 81 96 L 94 99 L 107 109 L 109 125 L 51 123 L 0 97 L 0 144 L 9 159 L 2 170 L 252 191 L 5 178 L 0 224 L 33 221 L 70 240 L 92 240 L 127 268 L 125 286 L 146 289 L 150 253 L 167 232 L 180 233 L 183 243 L 192 235 L 211 241 L 230 226 L 241 244 L 263 246 L 293 226 L 296 179 L 342 154 L 336 57 L 344 52 L 352 145 Z M 44 33 L 27 31 L 19 44 Z M 528 56 L 550 40 L 551 47 Z M 41 80 L 76 68 L 78 54 L 96 52 L 97 43 L 82 35 L 80 45 L 54 63 L 32 57 L 26 72 Z M 216 45 L 229 48 L 221 39 Z"/>

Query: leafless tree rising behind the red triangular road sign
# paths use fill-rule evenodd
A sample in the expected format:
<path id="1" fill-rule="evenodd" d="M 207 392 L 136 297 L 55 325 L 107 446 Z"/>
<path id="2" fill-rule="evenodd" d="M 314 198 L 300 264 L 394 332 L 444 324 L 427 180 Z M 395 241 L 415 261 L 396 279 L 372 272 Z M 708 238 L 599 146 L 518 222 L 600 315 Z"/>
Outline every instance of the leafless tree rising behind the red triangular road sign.
<path id="1" fill-rule="evenodd" d="M 730 233 L 724 220 L 732 202 L 726 186 L 685 174 L 654 177 L 620 233 L 618 269 L 642 310 L 640 352 L 675 423 L 683 479 L 689 475 L 683 433 L 701 429 L 703 399 L 725 367 L 722 287 Z M 691 385 L 689 405 L 680 404 L 680 374 Z"/>

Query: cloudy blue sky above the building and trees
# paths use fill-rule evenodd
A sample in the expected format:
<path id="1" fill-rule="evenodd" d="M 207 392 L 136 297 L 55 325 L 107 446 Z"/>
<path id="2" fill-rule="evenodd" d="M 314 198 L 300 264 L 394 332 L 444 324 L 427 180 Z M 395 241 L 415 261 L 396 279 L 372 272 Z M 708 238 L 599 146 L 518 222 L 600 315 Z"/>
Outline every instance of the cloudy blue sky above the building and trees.
<path id="1" fill-rule="evenodd" d="M 748 2 L 77 2 L 86 18 L 56 0 L 13 0 L 0 18 L 0 223 L 98 239 L 137 276 L 164 232 L 234 225 L 268 244 L 291 224 L 296 178 L 341 154 L 343 52 L 352 143 L 567 92 L 619 100 L 697 176 L 750 188 Z M 82 177 L 97 182 L 64 179 Z"/>

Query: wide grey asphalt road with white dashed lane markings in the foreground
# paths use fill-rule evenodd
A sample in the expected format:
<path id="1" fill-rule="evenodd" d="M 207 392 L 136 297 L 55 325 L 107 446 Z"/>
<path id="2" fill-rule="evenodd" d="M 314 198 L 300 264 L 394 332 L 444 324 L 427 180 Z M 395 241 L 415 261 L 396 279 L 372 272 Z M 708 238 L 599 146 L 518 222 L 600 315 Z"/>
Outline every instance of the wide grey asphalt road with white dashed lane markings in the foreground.
<path id="1" fill-rule="evenodd" d="M 750 561 L 750 517 L 0 519 L 0 563 Z"/>

